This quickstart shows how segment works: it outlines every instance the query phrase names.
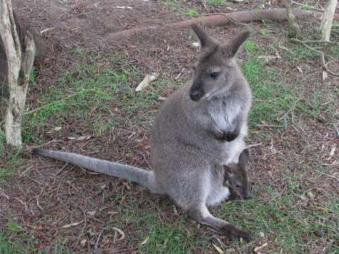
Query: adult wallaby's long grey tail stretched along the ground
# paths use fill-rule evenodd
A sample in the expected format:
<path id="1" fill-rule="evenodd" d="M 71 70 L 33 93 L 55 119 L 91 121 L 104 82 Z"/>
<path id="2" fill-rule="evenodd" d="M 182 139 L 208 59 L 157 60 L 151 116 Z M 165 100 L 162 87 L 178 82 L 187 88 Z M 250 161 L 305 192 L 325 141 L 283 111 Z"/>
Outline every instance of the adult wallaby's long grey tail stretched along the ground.
<path id="1" fill-rule="evenodd" d="M 108 162 L 104 159 L 95 159 L 83 155 L 77 155 L 72 152 L 61 152 L 44 149 L 34 149 L 32 152 L 36 155 L 69 162 L 78 167 L 90 169 L 95 172 L 107 174 L 109 176 L 117 176 L 120 179 L 126 179 L 128 181 L 140 183 L 142 186 L 149 188 L 151 191 L 156 189 L 153 171 L 139 169 L 137 167 L 131 167 L 129 165 L 117 162 Z"/>

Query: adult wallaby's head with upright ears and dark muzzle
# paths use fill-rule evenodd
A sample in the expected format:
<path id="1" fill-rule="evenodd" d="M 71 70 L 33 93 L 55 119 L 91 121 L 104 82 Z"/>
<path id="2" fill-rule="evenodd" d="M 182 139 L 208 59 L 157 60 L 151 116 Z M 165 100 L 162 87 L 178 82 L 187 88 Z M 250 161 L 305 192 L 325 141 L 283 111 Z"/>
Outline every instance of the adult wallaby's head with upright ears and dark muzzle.
<path id="1" fill-rule="evenodd" d="M 234 59 L 239 47 L 249 37 L 249 32 L 242 32 L 226 43 L 218 42 L 198 25 L 191 28 L 196 33 L 201 45 L 201 54 L 194 64 L 193 85 L 189 96 L 195 102 L 209 98 L 229 89 L 239 75 L 239 67 Z"/>

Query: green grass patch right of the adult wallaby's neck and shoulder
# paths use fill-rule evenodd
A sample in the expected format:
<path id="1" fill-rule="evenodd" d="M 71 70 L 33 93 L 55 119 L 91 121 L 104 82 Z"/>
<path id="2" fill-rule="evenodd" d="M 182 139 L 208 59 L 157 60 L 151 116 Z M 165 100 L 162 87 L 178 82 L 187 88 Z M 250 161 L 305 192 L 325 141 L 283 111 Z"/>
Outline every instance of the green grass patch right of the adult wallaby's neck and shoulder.
<path id="1" fill-rule="evenodd" d="M 275 68 L 267 68 L 264 61 L 250 56 L 242 63 L 242 70 L 253 92 L 254 103 L 249 114 L 249 126 L 270 124 L 287 126 L 293 114 L 302 114 L 316 118 L 326 116 L 330 123 L 335 118 L 335 107 L 328 102 L 328 95 L 315 92 L 304 99 L 293 90 L 295 84 L 289 84 Z"/>

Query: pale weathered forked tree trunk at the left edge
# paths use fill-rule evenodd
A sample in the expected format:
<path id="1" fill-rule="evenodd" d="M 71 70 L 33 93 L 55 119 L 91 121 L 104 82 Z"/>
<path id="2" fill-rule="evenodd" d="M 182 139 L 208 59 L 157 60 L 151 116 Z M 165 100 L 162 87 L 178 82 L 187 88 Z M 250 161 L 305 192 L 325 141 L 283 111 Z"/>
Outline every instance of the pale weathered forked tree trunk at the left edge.
<path id="1" fill-rule="evenodd" d="M 35 58 L 35 42 L 28 30 L 18 32 L 11 0 L 0 2 L 0 35 L 6 51 L 9 100 L 6 113 L 6 142 L 20 147 L 21 124 L 28 80 Z"/>

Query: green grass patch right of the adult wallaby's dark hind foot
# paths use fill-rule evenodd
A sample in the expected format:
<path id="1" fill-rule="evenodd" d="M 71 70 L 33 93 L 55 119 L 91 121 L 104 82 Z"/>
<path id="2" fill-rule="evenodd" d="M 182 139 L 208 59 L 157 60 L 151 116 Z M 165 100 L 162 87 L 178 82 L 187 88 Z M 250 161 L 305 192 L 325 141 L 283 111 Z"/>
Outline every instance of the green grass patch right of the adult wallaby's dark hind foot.
<path id="1" fill-rule="evenodd" d="M 279 253 L 309 253 L 309 243 L 313 242 L 316 246 L 316 242 L 321 241 L 314 234 L 317 229 L 325 231 L 332 241 L 338 240 L 338 198 L 333 197 L 328 203 L 319 203 L 316 205 L 318 209 L 296 209 L 300 202 L 299 195 L 306 196 L 304 191 L 299 191 L 296 186 L 297 183 L 290 182 L 284 193 L 269 186 L 268 200 L 226 202 L 218 213 L 228 222 L 251 231 L 254 239 L 260 238 L 259 234 L 269 236 L 270 241 L 274 243 L 273 246 L 268 246 L 272 248 L 269 253 L 273 253 L 273 250 L 280 250 Z M 324 207 L 326 210 L 323 210 Z M 335 250 L 334 247 L 332 249 Z"/>

